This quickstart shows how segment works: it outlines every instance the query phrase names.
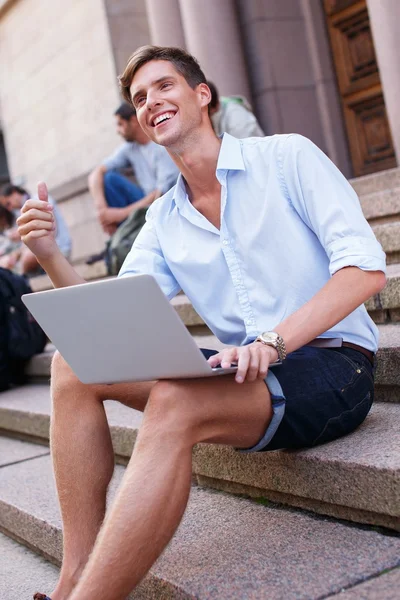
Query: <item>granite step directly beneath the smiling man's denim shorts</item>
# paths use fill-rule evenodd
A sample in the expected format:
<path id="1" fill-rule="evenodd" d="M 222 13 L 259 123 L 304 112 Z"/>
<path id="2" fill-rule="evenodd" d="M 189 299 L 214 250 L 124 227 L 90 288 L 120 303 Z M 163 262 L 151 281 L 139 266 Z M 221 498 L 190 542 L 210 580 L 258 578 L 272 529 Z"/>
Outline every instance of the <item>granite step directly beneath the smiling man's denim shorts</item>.
<path id="1" fill-rule="evenodd" d="M 113 401 L 105 408 L 116 459 L 124 464 L 142 414 Z M 0 430 L 8 435 L 47 444 L 49 420 L 48 385 L 0 395 Z M 244 455 L 199 445 L 193 472 L 201 485 L 400 530 L 399 436 L 400 404 L 381 402 L 357 431 L 317 448 Z"/>

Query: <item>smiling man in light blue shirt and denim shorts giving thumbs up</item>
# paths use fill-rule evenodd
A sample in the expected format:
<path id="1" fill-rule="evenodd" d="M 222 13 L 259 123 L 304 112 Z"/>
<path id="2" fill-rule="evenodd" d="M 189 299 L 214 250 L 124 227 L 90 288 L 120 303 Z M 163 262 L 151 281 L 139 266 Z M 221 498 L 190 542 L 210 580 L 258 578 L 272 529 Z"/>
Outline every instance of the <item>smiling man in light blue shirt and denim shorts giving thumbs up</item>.
<path id="1" fill-rule="evenodd" d="M 348 182 L 301 136 L 221 141 L 204 74 L 181 49 L 138 49 L 120 82 L 143 131 L 181 172 L 148 212 L 121 276 L 150 273 L 169 298 L 182 288 L 233 346 L 210 364 L 237 362 L 238 370 L 84 385 L 55 356 L 51 446 L 64 562 L 52 600 L 128 595 L 182 518 L 195 444 L 265 451 L 323 443 L 356 428 L 373 398 L 377 329 L 363 302 L 383 288 L 385 261 Z M 44 185 L 39 197 L 24 206 L 21 236 L 55 287 L 82 283 L 54 244 Z M 317 337 L 346 345 L 306 345 Z M 103 523 L 114 465 L 108 398 L 144 417 Z"/>

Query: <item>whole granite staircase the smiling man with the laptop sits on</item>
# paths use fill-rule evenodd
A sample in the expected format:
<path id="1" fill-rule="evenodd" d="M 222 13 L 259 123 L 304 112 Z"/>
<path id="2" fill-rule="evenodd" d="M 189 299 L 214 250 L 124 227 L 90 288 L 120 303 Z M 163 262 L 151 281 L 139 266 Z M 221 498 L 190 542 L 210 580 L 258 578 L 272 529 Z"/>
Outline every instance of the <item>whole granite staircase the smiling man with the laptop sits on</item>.
<path id="1" fill-rule="evenodd" d="M 243 455 L 199 445 L 184 521 L 132 598 L 398 599 L 400 170 L 352 183 L 390 263 L 387 287 L 367 303 L 380 330 L 371 414 L 346 438 L 298 452 Z M 81 269 L 104 276 L 101 263 Z M 49 285 L 46 277 L 33 283 Z M 221 347 L 185 296 L 173 305 L 199 346 Z M 7 600 L 49 592 L 57 569 L 47 561 L 61 560 L 48 449 L 53 351 L 49 345 L 31 361 L 29 385 L 0 395 L 0 531 L 7 536 L 0 535 L 7 557 L 0 597 Z M 142 416 L 105 404 L 117 463 L 112 496 Z M 23 582 L 17 568 L 27 574 Z"/>

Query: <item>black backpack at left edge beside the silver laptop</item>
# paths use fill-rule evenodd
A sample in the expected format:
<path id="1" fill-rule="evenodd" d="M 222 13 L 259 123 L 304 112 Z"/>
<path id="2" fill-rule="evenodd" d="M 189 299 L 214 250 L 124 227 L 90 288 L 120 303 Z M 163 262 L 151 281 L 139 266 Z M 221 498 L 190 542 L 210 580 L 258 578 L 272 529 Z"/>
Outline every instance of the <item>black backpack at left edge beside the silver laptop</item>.
<path id="1" fill-rule="evenodd" d="M 0 268 L 0 391 L 23 383 L 27 361 L 42 352 L 47 337 L 21 300 L 32 293 L 26 279 Z"/>

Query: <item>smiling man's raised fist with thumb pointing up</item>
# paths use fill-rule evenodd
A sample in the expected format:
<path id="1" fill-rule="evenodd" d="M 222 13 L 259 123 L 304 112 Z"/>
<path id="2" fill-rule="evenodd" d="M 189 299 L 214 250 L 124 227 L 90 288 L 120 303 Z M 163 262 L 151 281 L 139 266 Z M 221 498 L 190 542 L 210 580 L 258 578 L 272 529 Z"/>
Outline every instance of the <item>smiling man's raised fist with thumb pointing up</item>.
<path id="1" fill-rule="evenodd" d="M 38 184 L 38 198 L 30 198 L 23 205 L 17 225 L 21 240 L 39 260 L 57 252 L 53 206 L 44 182 Z"/>

